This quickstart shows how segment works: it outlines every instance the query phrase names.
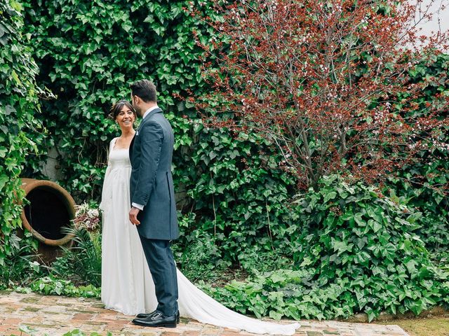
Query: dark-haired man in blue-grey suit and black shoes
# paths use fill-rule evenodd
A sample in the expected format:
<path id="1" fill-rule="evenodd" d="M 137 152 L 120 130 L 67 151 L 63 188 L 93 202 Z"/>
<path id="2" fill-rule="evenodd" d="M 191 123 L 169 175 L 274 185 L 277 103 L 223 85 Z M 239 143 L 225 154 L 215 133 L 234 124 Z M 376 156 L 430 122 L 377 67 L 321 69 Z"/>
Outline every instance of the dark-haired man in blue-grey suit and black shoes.
<path id="1" fill-rule="evenodd" d="M 131 102 L 143 120 L 129 149 L 133 167 L 129 220 L 137 225 L 158 301 L 155 311 L 138 314 L 133 323 L 175 328 L 179 323 L 179 311 L 176 267 L 170 241 L 179 237 L 179 230 L 171 176 L 173 130 L 156 104 L 154 84 L 149 80 L 138 80 L 130 87 Z"/>

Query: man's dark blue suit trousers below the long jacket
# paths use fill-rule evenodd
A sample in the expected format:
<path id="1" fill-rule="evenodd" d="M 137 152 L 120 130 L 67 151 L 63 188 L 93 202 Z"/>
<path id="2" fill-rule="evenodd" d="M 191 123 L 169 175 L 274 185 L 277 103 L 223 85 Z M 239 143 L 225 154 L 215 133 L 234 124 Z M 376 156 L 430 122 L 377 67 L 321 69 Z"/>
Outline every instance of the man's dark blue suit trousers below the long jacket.
<path id="1" fill-rule="evenodd" d="M 156 310 L 172 316 L 177 312 L 177 275 L 170 241 L 139 237 L 156 289 Z"/>

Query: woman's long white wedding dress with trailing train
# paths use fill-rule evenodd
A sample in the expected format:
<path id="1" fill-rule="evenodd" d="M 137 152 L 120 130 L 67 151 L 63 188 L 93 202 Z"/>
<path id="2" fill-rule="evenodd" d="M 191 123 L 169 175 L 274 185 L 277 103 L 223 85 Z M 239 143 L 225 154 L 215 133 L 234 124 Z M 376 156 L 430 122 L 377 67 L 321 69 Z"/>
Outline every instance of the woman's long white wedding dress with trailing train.
<path id="1" fill-rule="evenodd" d="M 130 210 L 130 160 L 128 149 L 109 145 L 109 160 L 103 182 L 102 286 L 107 309 L 126 315 L 156 309 L 154 283 L 142 250 L 138 230 L 128 220 Z M 246 330 L 256 334 L 293 335 L 299 323 L 278 324 L 249 318 L 232 311 L 196 288 L 177 269 L 180 315 L 201 323 Z"/>

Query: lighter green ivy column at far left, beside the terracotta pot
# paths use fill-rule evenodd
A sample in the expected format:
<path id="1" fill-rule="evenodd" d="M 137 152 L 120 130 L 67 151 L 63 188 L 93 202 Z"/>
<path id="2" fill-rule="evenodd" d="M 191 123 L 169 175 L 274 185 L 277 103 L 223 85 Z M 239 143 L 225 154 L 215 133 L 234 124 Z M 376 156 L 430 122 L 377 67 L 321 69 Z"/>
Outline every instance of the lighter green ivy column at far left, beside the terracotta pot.
<path id="1" fill-rule="evenodd" d="M 29 153 L 39 154 L 43 128 L 39 120 L 38 72 L 23 32 L 22 6 L 0 1 L 0 265 L 18 248 L 23 196 L 21 176 Z"/>

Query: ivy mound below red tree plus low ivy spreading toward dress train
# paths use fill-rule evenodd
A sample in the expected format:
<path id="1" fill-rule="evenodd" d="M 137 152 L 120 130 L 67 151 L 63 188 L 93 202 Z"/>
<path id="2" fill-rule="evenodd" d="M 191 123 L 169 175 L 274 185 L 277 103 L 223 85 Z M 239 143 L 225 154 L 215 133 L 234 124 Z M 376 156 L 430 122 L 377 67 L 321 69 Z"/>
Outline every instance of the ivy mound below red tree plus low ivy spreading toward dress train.
<path id="1" fill-rule="evenodd" d="M 288 230 L 297 270 L 278 270 L 208 288 L 229 307 L 256 316 L 348 317 L 381 311 L 419 314 L 449 304 L 448 274 L 414 233 L 421 214 L 373 187 L 336 176 L 297 198 Z M 301 225 L 301 228 L 300 228 Z"/>

